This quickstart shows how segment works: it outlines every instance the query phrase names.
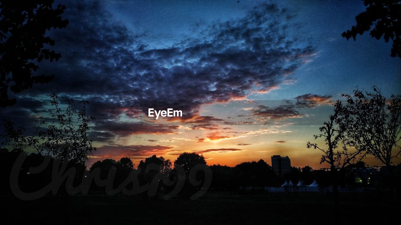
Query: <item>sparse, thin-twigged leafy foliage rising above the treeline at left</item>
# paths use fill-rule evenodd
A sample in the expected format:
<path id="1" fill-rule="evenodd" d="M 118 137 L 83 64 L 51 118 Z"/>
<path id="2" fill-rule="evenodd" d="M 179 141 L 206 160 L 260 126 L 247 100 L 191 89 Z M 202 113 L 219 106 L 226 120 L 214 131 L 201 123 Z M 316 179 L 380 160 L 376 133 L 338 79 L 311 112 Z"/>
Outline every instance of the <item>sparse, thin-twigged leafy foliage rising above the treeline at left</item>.
<path id="1" fill-rule="evenodd" d="M 62 112 L 57 95 L 50 96 L 51 105 L 55 110 L 55 114 L 51 116 L 51 122 L 48 122 L 45 117 L 40 117 L 40 124 L 34 127 L 34 136 L 25 137 L 23 126 L 15 130 L 14 123 L 3 120 L 4 143 L 12 144 L 13 149 L 29 146 L 39 153 L 53 155 L 61 160 L 68 159 L 84 163 L 88 158 L 87 154 L 96 151 L 96 148 L 92 146 L 92 140 L 87 137 L 89 122 L 95 119 L 86 115 L 86 104 L 89 102 L 82 100 L 80 103 L 83 104 L 83 108 L 76 111 L 72 106 L 73 100 L 67 100 L 67 108 L 65 112 Z"/>

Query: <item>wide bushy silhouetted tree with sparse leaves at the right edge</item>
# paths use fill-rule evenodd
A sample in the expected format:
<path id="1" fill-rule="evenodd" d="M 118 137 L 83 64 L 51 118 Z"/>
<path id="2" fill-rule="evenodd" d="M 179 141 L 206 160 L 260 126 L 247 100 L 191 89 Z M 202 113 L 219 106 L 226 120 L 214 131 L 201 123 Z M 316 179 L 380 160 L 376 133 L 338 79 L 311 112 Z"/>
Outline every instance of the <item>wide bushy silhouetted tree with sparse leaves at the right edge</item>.
<path id="1" fill-rule="evenodd" d="M 391 95 L 388 101 L 376 86 L 373 92 L 356 89 L 353 96 L 342 96 L 347 103 L 336 121 L 346 133 L 346 144 L 379 159 L 394 177 L 391 165 L 401 153 L 401 96 Z"/>

